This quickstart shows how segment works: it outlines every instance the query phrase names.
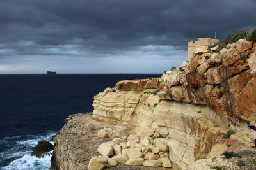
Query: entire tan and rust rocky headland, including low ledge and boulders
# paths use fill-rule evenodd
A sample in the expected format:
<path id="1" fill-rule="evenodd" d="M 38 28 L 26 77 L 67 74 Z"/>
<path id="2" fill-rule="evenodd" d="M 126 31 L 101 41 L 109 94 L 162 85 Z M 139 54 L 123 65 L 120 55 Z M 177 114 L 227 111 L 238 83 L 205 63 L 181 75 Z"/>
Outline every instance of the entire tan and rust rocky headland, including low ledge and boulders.
<path id="1" fill-rule="evenodd" d="M 240 39 L 220 52 L 217 47 L 196 48 L 191 60 L 161 78 L 123 80 L 97 94 L 93 114 L 70 115 L 55 136 L 51 169 L 163 169 L 163 157 L 173 169 L 255 169 L 246 126 L 256 124 L 256 43 Z M 98 135 L 109 128 L 125 129 L 127 136 L 110 130 L 109 138 Z M 129 141 L 130 134 L 138 139 Z M 153 151 L 154 136 L 164 138 L 161 145 L 167 149 L 161 154 Z M 144 139 L 153 142 L 145 146 Z M 108 154 L 101 151 L 102 143 Z M 125 149 L 138 156 L 129 157 Z M 147 162 L 145 150 L 154 153 L 153 162 Z M 129 160 L 111 167 L 114 153 Z M 132 159 L 140 166 L 127 166 Z"/>

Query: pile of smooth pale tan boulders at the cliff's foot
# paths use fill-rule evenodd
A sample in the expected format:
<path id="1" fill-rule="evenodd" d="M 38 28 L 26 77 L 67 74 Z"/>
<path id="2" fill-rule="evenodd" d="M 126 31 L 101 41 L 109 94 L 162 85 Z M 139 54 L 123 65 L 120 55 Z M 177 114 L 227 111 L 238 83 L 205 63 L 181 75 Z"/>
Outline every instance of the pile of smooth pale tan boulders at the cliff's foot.
<path id="1" fill-rule="evenodd" d="M 107 138 L 109 131 L 110 129 L 101 129 L 98 136 Z M 116 134 L 115 131 L 112 133 Z M 107 164 L 117 166 L 118 163 L 129 166 L 172 167 L 166 138 L 152 138 L 140 134 L 114 137 L 112 141 L 102 143 L 97 151 L 102 156 L 92 157 L 88 165 L 89 170 L 103 169 Z"/>

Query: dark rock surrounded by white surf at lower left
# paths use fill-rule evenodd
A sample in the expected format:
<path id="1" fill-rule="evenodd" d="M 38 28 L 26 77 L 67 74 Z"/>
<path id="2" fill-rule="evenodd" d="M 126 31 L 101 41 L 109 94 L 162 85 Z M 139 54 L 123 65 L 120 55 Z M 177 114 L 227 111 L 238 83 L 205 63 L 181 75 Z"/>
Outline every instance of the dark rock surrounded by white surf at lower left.
<path id="1" fill-rule="evenodd" d="M 54 150 L 54 145 L 52 145 L 49 141 L 42 140 L 37 143 L 37 145 L 32 148 L 33 152 L 31 156 L 36 156 L 38 158 L 44 157 L 44 155 L 50 155 L 50 151 Z"/>

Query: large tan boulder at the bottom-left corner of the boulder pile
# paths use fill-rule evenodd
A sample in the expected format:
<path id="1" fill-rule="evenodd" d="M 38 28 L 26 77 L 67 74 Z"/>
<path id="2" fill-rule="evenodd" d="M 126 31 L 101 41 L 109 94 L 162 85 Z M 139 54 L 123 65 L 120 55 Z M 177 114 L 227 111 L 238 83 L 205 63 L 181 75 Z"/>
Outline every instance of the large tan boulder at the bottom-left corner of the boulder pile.
<path id="1" fill-rule="evenodd" d="M 92 157 L 88 164 L 88 170 L 100 170 L 106 166 L 106 162 L 108 161 L 108 157 Z"/>

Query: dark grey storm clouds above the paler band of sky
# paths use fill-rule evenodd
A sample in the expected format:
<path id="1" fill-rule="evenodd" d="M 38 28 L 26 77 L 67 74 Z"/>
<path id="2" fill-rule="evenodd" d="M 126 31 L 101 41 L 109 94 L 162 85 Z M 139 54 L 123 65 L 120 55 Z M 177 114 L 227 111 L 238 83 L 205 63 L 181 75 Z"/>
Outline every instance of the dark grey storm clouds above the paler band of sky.
<path id="1" fill-rule="evenodd" d="M 1 0 L 0 58 L 177 56 L 198 37 L 214 38 L 216 31 L 223 39 L 255 26 L 255 6 L 254 0 Z"/>

